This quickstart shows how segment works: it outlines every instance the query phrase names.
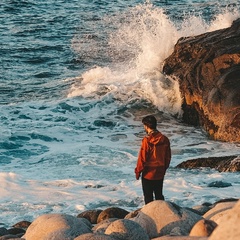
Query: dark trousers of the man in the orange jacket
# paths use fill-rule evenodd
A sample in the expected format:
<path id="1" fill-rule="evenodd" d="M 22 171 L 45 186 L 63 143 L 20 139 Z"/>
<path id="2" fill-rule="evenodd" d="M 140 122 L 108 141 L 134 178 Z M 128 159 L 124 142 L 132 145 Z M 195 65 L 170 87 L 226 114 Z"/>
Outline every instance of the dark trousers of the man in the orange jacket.
<path id="1" fill-rule="evenodd" d="M 153 194 L 155 200 L 164 200 L 164 196 L 162 195 L 163 179 L 148 180 L 142 177 L 142 189 L 145 204 L 153 201 Z"/>

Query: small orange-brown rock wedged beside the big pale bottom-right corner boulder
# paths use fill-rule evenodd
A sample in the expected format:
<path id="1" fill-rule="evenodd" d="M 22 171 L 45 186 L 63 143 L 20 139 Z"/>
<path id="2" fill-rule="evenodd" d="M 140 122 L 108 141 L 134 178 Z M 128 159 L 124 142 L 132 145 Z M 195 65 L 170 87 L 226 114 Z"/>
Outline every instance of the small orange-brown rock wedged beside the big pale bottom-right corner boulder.
<path id="1" fill-rule="evenodd" d="M 209 237 L 216 227 L 214 221 L 201 219 L 193 226 L 189 236 Z"/>

